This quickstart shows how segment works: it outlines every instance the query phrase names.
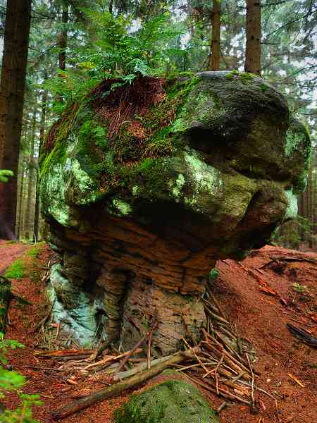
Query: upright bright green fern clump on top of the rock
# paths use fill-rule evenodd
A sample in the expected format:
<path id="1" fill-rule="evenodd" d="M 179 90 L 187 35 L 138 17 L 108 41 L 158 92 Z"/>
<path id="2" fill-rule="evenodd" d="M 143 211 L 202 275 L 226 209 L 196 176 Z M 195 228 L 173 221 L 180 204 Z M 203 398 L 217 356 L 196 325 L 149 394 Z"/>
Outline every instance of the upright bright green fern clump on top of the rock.
<path id="1" fill-rule="evenodd" d="M 179 35 L 169 22 L 169 14 L 149 18 L 132 31 L 130 18 L 111 13 L 86 11 L 99 34 L 99 51 L 82 54 L 80 66 L 97 78 L 122 78 L 131 83 L 137 75 L 158 75 L 168 52 L 163 45 Z M 172 28 L 172 29 L 171 29 Z"/>

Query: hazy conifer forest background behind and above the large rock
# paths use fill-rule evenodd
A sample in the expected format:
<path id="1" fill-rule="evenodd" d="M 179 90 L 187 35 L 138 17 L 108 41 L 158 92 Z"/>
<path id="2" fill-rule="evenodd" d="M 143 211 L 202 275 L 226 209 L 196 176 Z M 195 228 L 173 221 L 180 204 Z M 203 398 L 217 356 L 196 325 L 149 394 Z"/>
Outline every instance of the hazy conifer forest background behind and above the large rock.
<path id="1" fill-rule="evenodd" d="M 256 66 L 245 62 L 246 11 L 251 3 L 255 2 L 33 0 L 17 172 L 16 238 L 37 240 L 41 236 L 39 158 L 47 130 L 58 115 L 104 78 L 130 83 L 137 74 L 173 78 L 184 72 L 244 71 L 244 66 L 249 71 Z M 298 199 L 299 216 L 280 227 L 275 242 L 316 250 L 317 4 L 314 0 L 256 4 L 260 14 L 253 18 L 260 30 L 261 51 L 251 55 L 259 59 L 260 69 L 254 73 L 261 72 L 285 94 L 292 114 L 306 125 L 313 142 L 308 187 Z M 6 10 L 7 2 L 0 0 L 0 49 L 4 47 Z"/>

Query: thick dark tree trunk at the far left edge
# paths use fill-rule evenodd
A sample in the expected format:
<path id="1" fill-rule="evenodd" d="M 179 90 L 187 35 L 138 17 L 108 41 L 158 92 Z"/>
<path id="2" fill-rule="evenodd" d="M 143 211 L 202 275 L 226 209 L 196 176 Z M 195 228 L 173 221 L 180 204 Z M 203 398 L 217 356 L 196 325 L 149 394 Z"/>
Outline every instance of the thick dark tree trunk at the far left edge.
<path id="1" fill-rule="evenodd" d="M 15 8 L 13 8 L 15 7 Z M 11 56 L 10 80 L 4 77 L 3 84 L 7 85 L 6 108 L 0 111 L 5 116 L 4 124 L 4 153 L 1 166 L 10 169 L 15 174 L 8 183 L 0 185 L 0 238 L 15 238 L 15 217 L 17 202 L 17 173 L 20 150 L 20 135 L 23 118 L 23 97 L 25 91 L 25 75 L 27 68 L 27 50 L 30 35 L 31 0 L 10 1 L 6 27 L 12 27 L 11 20 L 15 20 L 13 38 L 13 54 Z M 8 32 L 6 32 L 8 34 Z M 8 39 L 4 39 L 4 44 Z M 4 49 L 6 52 L 6 48 Z M 4 58 L 5 65 L 10 59 Z M 2 83 L 1 83 L 2 85 Z"/>

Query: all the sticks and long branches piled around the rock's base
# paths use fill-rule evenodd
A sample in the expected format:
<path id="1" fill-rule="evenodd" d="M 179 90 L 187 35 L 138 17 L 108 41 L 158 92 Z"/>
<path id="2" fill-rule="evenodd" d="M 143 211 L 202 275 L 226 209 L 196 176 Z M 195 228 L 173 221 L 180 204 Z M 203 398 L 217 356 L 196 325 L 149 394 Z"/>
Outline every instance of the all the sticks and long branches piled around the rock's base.
<path id="1" fill-rule="evenodd" d="M 97 352 L 100 352 L 100 348 L 77 350 L 77 352 L 76 350 L 61 350 L 36 353 L 37 357 L 55 357 L 60 364 L 58 370 L 68 373 L 67 380 L 72 380 L 72 383 L 75 383 L 76 379 L 75 376 L 69 378 L 71 372 L 77 376 L 80 374 L 79 379 L 89 378 L 92 381 L 110 385 L 59 408 L 53 413 L 53 417 L 61 419 L 89 405 L 111 398 L 168 368 L 176 369 L 197 386 L 222 397 L 224 401 L 218 408 L 218 412 L 225 405 L 235 402 L 257 408 L 259 402 L 256 399 L 256 393 L 258 391 L 275 400 L 271 393 L 257 386 L 254 350 L 247 341 L 237 335 L 236 328 L 225 317 L 209 287 L 203 301 L 206 329 L 202 330 L 203 337 L 199 345 L 195 345 L 188 334 L 187 339 L 182 338 L 187 349 L 167 357 L 151 360 L 152 335 L 157 326 L 155 319 L 151 329 L 144 333 L 135 348 L 124 353 L 116 350 L 112 344 L 107 345 L 108 348 L 102 352 L 101 357 L 99 355 L 99 358 L 97 358 Z M 147 348 L 147 357 L 140 357 L 140 353 L 144 351 L 142 344 Z"/>

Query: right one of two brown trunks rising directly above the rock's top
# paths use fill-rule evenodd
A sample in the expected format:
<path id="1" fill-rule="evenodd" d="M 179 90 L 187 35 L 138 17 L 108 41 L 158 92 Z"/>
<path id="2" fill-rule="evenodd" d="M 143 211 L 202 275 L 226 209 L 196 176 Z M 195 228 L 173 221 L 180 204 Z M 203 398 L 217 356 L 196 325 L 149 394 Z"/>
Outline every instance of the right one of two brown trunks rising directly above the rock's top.
<path id="1" fill-rule="evenodd" d="M 261 0 L 247 0 L 246 72 L 261 75 Z"/>

